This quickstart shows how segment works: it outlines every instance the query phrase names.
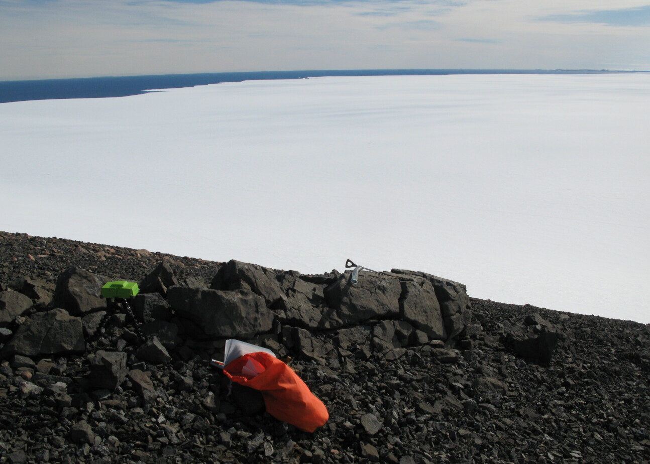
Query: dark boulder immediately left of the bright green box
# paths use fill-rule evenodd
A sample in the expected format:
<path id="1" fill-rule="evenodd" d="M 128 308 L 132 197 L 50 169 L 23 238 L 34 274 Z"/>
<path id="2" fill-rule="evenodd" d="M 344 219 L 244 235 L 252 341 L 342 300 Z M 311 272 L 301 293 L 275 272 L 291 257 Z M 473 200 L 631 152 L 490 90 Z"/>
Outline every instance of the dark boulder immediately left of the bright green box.
<path id="1" fill-rule="evenodd" d="M 98 276 L 79 268 L 69 268 L 57 279 L 53 305 L 66 309 L 73 316 L 103 309 L 106 307 L 106 300 L 100 296 L 101 287 L 109 281 L 109 277 Z"/>

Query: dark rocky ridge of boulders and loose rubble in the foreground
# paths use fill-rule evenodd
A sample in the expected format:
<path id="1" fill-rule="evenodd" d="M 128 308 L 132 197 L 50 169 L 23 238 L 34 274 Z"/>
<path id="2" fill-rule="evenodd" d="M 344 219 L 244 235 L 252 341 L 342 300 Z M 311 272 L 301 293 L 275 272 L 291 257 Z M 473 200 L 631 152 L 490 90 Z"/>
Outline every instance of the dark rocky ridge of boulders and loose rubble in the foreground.
<path id="1" fill-rule="evenodd" d="M 118 279 L 134 317 L 99 298 Z M 227 338 L 287 359 L 328 423 L 229 385 Z M 422 272 L 353 285 L 0 232 L 0 462 L 648 463 L 649 347 L 649 326 Z"/>

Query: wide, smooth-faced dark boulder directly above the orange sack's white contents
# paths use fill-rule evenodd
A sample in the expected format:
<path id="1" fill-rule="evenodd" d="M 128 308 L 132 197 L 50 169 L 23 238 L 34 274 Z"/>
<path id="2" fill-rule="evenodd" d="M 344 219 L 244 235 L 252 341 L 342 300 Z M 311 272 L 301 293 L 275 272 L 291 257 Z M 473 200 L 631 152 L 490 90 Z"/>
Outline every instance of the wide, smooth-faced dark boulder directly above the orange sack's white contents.
<path id="1" fill-rule="evenodd" d="M 171 287 L 168 302 L 200 325 L 207 335 L 250 339 L 270 331 L 274 314 L 250 290 L 202 290 Z"/>

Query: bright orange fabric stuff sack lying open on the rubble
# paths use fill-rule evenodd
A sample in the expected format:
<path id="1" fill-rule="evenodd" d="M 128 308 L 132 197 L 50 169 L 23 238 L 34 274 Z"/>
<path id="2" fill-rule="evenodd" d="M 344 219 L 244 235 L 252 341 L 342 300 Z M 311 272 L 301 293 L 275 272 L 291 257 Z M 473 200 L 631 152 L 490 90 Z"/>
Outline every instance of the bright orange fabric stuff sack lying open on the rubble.
<path id="1" fill-rule="evenodd" d="M 266 412 L 305 432 L 330 419 L 327 408 L 289 366 L 267 353 L 249 353 L 224 367 L 233 382 L 262 393 Z"/>

